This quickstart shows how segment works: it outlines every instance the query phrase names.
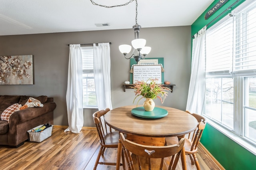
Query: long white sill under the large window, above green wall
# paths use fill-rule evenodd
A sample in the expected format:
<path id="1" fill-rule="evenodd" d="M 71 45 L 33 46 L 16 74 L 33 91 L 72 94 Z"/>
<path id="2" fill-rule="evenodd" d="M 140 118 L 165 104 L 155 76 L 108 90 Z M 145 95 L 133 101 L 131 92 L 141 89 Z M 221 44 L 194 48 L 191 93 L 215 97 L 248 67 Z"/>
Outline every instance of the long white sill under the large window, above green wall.
<path id="1" fill-rule="evenodd" d="M 212 127 L 216 128 L 217 130 L 219 130 L 220 132 L 222 132 L 224 135 L 226 135 L 228 138 L 234 140 L 234 142 L 236 142 L 237 144 L 239 144 L 240 146 L 244 147 L 246 150 L 248 150 L 249 152 L 251 152 L 252 154 L 256 155 L 256 146 L 254 146 L 253 144 L 251 144 L 250 142 L 244 140 L 242 137 L 238 136 L 237 134 L 234 134 L 233 132 L 221 127 L 220 125 L 218 125 L 217 123 L 215 123 L 212 120 L 207 120 L 207 123 L 209 123 L 209 125 L 211 125 Z"/>

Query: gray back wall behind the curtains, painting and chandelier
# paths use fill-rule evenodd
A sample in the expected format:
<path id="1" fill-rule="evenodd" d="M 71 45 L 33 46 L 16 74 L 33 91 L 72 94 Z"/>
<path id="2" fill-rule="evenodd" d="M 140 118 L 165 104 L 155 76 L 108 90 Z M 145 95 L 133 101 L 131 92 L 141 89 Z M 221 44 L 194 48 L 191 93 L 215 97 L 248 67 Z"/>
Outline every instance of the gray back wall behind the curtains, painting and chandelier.
<path id="1" fill-rule="evenodd" d="M 152 47 L 150 57 L 164 57 L 164 81 L 174 86 L 173 93 L 162 105 L 185 110 L 190 81 L 191 27 L 142 28 L 140 38 Z M 54 125 L 68 125 L 66 113 L 66 87 L 68 73 L 68 44 L 112 42 L 111 94 L 113 108 L 132 105 L 132 89 L 123 90 L 122 83 L 130 79 L 130 61 L 124 59 L 118 45 L 131 44 L 132 29 L 90 32 L 65 32 L 0 36 L 0 55 L 33 55 L 34 85 L 0 85 L 0 95 L 47 95 L 54 97 Z M 142 104 L 140 101 L 139 104 Z M 158 99 L 156 105 L 161 105 Z M 135 103 L 136 105 L 136 103 Z M 92 113 L 84 109 L 84 126 L 94 127 Z"/>

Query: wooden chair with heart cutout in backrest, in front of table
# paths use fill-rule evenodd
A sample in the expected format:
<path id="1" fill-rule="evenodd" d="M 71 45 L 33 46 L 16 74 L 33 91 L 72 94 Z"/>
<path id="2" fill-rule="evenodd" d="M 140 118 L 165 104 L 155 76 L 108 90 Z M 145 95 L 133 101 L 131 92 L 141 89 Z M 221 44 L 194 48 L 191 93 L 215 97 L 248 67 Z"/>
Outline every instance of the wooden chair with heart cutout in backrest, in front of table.
<path id="1" fill-rule="evenodd" d="M 164 158 L 169 157 L 169 156 L 174 156 L 176 155 L 176 158 L 174 160 L 170 161 L 169 164 L 169 170 L 175 170 L 178 160 L 180 158 L 180 155 L 183 153 L 182 156 L 185 157 L 185 152 L 184 152 L 184 138 L 178 142 L 178 144 L 173 144 L 170 146 L 150 146 L 150 145 L 143 145 L 143 144 L 138 144 L 135 142 L 132 142 L 124 137 L 124 134 L 120 132 L 120 140 L 124 146 L 124 154 L 126 158 L 126 162 L 128 163 L 128 169 L 129 170 L 134 170 L 134 169 L 139 169 L 141 170 L 141 164 L 140 164 L 140 157 L 144 157 L 148 159 L 148 169 L 151 170 L 151 159 L 152 158 L 161 158 L 161 163 L 160 163 L 160 170 L 163 168 L 163 163 L 164 163 Z M 134 167 L 134 160 L 132 160 L 131 154 L 136 155 L 136 160 L 138 164 L 138 168 Z M 185 158 L 184 158 L 185 160 Z"/>

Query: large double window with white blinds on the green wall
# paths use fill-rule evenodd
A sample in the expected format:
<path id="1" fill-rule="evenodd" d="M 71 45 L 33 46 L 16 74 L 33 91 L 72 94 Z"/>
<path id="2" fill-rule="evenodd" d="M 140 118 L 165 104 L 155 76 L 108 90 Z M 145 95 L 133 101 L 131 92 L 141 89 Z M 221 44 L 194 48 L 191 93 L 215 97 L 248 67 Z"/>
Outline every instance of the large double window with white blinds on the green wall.
<path id="1" fill-rule="evenodd" d="M 256 3 L 206 31 L 204 115 L 256 146 Z"/>

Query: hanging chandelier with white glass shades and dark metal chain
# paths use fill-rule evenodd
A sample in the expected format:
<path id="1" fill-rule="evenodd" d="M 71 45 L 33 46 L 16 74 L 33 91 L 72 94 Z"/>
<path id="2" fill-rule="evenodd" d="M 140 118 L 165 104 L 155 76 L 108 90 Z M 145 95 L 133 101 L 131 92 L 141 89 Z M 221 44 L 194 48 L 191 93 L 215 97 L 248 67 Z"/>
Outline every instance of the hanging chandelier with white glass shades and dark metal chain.
<path id="1" fill-rule="evenodd" d="M 134 36 L 135 39 L 132 40 L 132 46 L 127 45 L 127 44 L 119 45 L 119 51 L 124 54 L 124 57 L 126 59 L 130 59 L 131 57 L 134 57 L 135 61 L 138 63 L 140 61 L 140 59 L 145 59 L 146 55 L 148 55 L 148 53 L 151 51 L 151 47 L 145 46 L 146 40 L 139 38 L 139 32 L 140 32 L 141 26 L 138 25 L 138 23 L 137 23 L 138 3 L 137 3 L 137 0 L 135 0 L 135 1 L 136 1 L 136 18 L 135 18 L 136 25 L 132 27 L 134 30 L 134 34 L 135 34 L 135 36 Z M 130 53 L 132 47 L 134 48 L 132 55 L 130 57 L 126 57 L 126 55 L 128 53 Z M 136 54 L 134 54 L 135 50 L 137 50 Z"/>

